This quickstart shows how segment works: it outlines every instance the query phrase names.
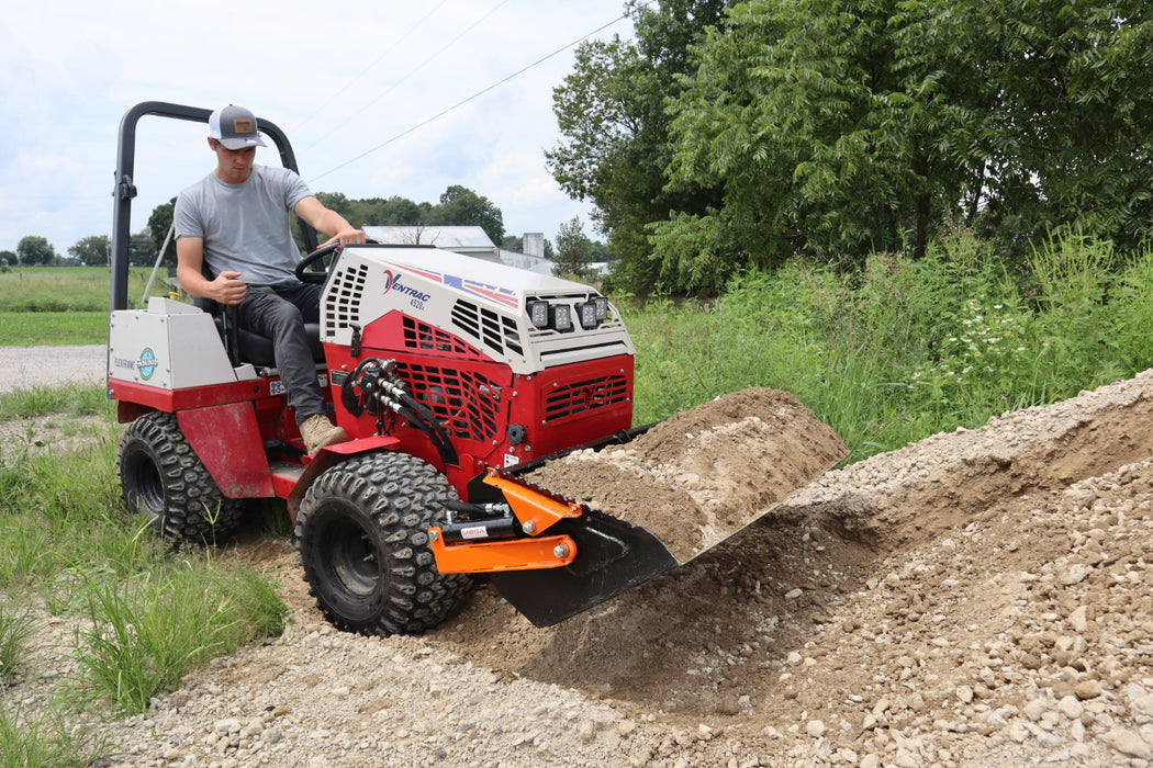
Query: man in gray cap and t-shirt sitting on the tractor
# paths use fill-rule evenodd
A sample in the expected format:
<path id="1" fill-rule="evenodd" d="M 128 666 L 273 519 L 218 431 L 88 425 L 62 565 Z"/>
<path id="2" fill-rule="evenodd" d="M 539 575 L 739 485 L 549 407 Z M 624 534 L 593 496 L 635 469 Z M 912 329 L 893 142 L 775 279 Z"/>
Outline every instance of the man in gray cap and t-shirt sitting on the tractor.
<path id="1" fill-rule="evenodd" d="M 325 412 L 316 365 L 304 333 L 316 322 L 321 286 L 293 274 L 300 251 L 289 213 L 332 243 L 364 242 L 336 211 L 325 207 L 288 168 L 256 165 L 265 146 L 256 116 L 228 105 L 209 119 L 216 169 L 180 192 L 174 212 L 176 276 L 189 295 L 238 307 L 239 324 L 272 340 L 288 405 L 309 454 L 348 439 Z"/>

